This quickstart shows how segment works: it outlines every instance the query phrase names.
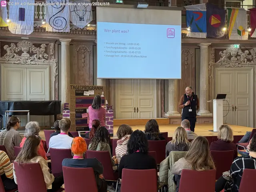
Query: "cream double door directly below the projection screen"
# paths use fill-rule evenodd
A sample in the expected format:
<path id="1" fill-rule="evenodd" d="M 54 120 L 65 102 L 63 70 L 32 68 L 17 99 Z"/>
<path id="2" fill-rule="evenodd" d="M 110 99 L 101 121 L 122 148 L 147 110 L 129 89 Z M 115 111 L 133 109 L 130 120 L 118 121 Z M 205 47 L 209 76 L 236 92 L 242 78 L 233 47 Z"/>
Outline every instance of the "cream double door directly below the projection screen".
<path id="1" fill-rule="evenodd" d="M 116 118 L 156 118 L 156 80 L 116 80 Z"/>

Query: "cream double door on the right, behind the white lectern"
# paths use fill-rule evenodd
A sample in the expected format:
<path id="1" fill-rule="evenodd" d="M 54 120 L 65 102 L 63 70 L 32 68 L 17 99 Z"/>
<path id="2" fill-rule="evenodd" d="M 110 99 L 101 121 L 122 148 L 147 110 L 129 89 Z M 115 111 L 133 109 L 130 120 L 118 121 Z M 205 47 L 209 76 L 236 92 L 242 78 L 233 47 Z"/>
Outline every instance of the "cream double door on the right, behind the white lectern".
<path id="1" fill-rule="evenodd" d="M 227 94 L 229 99 L 223 102 L 223 123 L 253 126 L 252 68 L 216 68 L 216 94 Z"/>

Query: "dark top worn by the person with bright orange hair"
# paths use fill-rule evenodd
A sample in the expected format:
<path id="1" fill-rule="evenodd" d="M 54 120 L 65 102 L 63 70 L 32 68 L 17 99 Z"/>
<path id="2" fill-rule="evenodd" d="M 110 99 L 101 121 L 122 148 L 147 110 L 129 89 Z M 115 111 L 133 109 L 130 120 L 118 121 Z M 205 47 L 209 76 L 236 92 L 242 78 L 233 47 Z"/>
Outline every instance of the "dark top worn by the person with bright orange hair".
<path id="1" fill-rule="evenodd" d="M 62 166 L 78 167 L 78 168 L 89 168 L 89 167 L 93 168 L 98 189 L 101 188 L 101 179 L 99 178 L 99 174 L 103 174 L 103 166 L 96 158 L 92 158 L 92 159 L 66 158 L 62 161 Z"/>

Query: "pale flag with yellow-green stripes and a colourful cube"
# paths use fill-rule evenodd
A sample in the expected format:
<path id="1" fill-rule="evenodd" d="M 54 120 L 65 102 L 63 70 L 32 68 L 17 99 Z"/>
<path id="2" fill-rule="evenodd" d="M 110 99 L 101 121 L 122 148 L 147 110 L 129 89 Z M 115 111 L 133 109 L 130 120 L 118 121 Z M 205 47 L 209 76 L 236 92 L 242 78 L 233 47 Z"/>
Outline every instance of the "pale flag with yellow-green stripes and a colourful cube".
<path id="1" fill-rule="evenodd" d="M 226 8 L 230 40 L 248 40 L 247 16 L 244 8 Z"/>

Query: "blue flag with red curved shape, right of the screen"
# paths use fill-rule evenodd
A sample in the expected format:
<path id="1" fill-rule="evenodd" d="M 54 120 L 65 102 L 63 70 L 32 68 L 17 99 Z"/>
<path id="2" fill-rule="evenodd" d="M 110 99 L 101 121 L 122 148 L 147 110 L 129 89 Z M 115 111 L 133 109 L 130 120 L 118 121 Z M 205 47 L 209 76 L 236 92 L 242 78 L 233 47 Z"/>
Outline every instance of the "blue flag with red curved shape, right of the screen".
<path id="1" fill-rule="evenodd" d="M 186 22 L 190 29 L 187 37 L 206 38 L 206 5 L 190 5 L 186 8 Z"/>

